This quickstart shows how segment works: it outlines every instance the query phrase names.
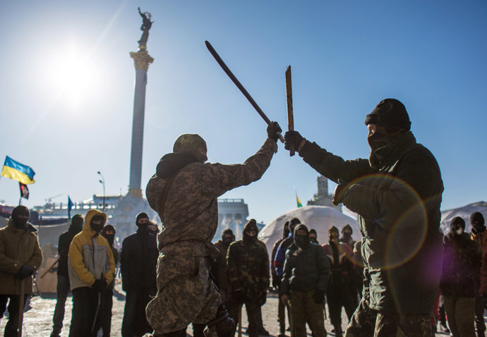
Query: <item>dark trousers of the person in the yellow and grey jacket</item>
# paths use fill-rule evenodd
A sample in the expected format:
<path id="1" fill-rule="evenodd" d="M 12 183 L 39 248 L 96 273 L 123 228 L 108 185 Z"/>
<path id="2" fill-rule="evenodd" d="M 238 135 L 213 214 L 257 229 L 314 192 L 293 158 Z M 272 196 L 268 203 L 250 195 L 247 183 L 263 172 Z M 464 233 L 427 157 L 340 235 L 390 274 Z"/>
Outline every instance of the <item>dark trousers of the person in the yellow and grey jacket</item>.
<path id="1" fill-rule="evenodd" d="M 73 312 L 69 337 L 96 337 L 100 329 L 100 306 L 104 292 L 89 287 L 73 289 Z M 92 331 L 95 314 L 97 322 Z"/>

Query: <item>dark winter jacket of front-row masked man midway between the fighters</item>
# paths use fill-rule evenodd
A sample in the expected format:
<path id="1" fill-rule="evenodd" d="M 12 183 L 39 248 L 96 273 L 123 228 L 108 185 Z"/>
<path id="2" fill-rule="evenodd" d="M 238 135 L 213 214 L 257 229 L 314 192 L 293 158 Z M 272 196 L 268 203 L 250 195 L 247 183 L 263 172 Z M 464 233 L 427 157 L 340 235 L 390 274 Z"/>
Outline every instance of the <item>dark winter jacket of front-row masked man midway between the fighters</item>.
<path id="1" fill-rule="evenodd" d="M 326 291 L 330 277 L 330 263 L 323 247 L 310 243 L 299 250 L 295 243 L 286 251 L 284 274 L 282 276 L 281 293 L 289 295 L 292 290 Z"/>

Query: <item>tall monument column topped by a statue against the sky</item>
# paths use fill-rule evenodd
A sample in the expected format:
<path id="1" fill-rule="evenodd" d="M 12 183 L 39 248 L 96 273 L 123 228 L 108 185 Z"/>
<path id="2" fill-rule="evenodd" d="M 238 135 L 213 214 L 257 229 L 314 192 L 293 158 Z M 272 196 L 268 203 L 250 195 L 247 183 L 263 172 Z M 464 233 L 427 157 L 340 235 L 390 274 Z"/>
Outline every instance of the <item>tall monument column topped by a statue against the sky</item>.
<path id="1" fill-rule="evenodd" d="M 142 27 L 140 27 L 140 30 L 143 30 L 143 34 L 138 41 L 138 51 L 130 53 L 130 56 L 133 59 L 134 66 L 136 67 L 136 90 L 133 97 L 130 180 L 128 183 L 128 194 L 132 197 L 142 197 L 140 180 L 142 178 L 145 86 L 147 85 L 147 71 L 149 69 L 149 63 L 152 63 L 154 61 L 154 59 L 152 59 L 152 57 L 149 55 L 146 47 L 149 37 L 149 30 L 152 25 L 152 22 L 150 22 L 150 13 L 141 13 L 140 8 L 138 8 L 138 12 L 143 18 L 143 24 Z"/>

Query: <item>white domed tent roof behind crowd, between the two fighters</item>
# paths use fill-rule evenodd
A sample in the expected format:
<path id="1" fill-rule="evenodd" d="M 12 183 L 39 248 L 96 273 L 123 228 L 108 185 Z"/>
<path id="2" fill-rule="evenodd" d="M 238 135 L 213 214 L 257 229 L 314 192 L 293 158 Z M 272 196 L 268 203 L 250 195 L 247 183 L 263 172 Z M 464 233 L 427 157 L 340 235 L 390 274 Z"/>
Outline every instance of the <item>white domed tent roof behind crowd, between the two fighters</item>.
<path id="1" fill-rule="evenodd" d="M 299 207 L 278 216 L 276 219 L 270 221 L 270 223 L 259 232 L 258 238 L 265 243 L 269 254 L 272 252 L 274 243 L 282 238 L 284 223 L 293 218 L 301 220 L 301 223 L 304 223 L 308 229 L 314 228 L 318 234 L 318 241 L 322 245 L 328 241 L 328 229 L 330 229 L 331 226 L 337 227 L 341 233 L 342 228 L 348 224 L 353 230 L 351 236 L 354 240 L 360 240 L 361 238 L 359 223 L 350 216 L 342 214 L 331 207 Z"/>

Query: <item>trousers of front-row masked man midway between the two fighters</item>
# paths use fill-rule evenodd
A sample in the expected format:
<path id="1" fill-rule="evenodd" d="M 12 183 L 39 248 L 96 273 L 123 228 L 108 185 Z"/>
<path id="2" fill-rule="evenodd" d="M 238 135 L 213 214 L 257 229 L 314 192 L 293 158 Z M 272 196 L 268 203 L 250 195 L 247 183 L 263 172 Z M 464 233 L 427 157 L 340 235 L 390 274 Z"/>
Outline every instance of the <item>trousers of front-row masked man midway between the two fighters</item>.
<path id="1" fill-rule="evenodd" d="M 292 329 L 294 337 L 306 337 L 306 321 L 315 337 L 325 337 L 325 317 L 323 317 L 323 303 L 316 303 L 315 290 L 292 290 L 289 299 Z"/>

